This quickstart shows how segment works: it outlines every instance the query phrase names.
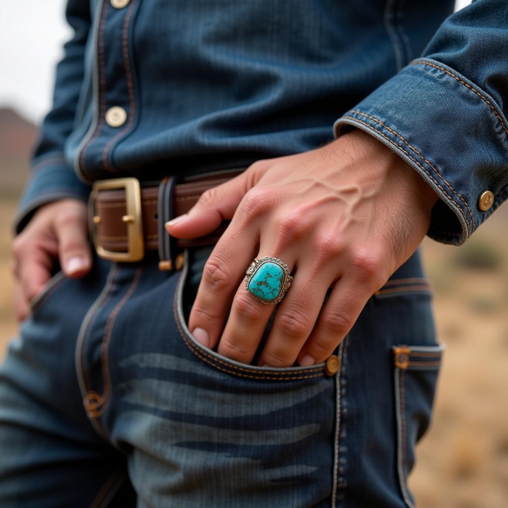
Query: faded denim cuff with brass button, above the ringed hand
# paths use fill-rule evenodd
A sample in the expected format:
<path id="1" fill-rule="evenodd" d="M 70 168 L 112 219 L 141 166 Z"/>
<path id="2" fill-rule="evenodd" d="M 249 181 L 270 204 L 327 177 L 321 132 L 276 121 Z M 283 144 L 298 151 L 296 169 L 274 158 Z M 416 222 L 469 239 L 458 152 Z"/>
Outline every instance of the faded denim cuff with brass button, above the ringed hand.
<path id="1" fill-rule="evenodd" d="M 419 59 L 334 124 L 355 126 L 398 153 L 439 195 L 428 235 L 460 245 L 508 197 L 508 128 L 495 101 L 450 67 Z M 490 190 L 494 202 L 479 207 Z"/>

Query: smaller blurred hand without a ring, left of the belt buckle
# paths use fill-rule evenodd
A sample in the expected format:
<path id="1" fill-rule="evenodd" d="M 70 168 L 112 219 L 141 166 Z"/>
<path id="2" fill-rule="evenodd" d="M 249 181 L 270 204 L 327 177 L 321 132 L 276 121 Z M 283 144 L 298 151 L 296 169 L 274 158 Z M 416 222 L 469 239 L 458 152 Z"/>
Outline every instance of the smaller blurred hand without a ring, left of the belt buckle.
<path id="1" fill-rule="evenodd" d="M 65 199 L 41 206 L 14 239 L 15 310 L 19 321 L 30 301 L 51 277 L 54 260 L 68 277 L 82 277 L 91 268 L 86 204 Z"/>

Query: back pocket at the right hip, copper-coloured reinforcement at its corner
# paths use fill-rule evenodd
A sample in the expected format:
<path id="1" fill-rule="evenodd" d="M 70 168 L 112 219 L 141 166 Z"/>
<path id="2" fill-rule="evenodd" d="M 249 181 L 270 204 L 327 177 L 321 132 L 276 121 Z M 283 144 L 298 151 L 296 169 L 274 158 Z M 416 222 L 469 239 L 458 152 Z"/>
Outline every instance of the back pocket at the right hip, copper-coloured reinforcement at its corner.
<path id="1" fill-rule="evenodd" d="M 407 477 L 415 463 L 415 444 L 427 430 L 441 364 L 443 345 L 393 347 L 395 411 L 397 422 L 397 473 L 407 506 L 414 498 Z"/>

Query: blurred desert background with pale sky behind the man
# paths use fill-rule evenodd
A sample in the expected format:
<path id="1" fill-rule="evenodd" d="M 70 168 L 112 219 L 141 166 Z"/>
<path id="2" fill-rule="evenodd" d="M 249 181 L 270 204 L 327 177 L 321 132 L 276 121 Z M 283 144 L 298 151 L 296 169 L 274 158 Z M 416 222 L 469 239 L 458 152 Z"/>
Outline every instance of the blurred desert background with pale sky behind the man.
<path id="1" fill-rule="evenodd" d="M 457 0 L 457 9 L 468 3 Z M 65 0 L 0 3 L 0 358 L 17 330 L 9 270 L 12 217 L 36 137 L 33 123 L 49 108 L 52 69 L 70 35 L 64 5 Z M 508 204 L 460 248 L 426 239 L 424 262 L 434 287 L 438 336 L 447 350 L 433 423 L 409 483 L 419 508 L 504 508 Z"/>

